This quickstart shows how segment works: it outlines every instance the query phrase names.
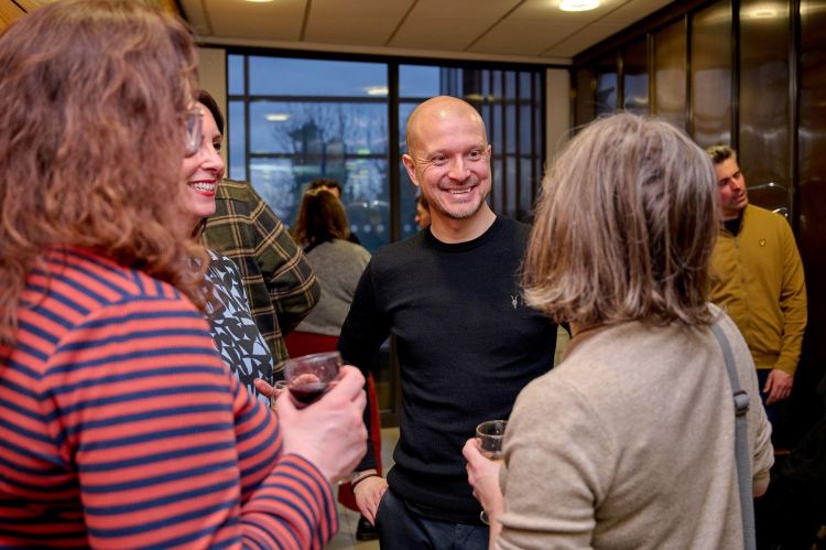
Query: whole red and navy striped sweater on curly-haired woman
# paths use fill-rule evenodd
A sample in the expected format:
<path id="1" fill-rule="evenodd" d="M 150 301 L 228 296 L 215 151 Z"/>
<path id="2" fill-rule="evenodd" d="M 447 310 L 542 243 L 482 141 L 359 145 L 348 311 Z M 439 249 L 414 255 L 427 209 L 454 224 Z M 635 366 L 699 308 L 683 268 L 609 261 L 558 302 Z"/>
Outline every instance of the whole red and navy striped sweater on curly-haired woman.
<path id="1" fill-rule="evenodd" d="M 0 547 L 323 548 L 329 484 L 173 287 L 46 255 L 0 346 Z"/>

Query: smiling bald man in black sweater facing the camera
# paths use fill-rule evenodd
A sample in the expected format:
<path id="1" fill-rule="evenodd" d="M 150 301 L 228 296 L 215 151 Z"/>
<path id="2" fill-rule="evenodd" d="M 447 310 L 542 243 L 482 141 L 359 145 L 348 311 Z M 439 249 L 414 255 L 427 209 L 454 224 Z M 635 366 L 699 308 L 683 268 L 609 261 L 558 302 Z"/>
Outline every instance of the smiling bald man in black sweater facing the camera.
<path id="1" fill-rule="evenodd" d="M 359 282 L 339 348 L 362 370 L 393 334 L 402 413 L 384 479 L 368 454 L 354 476 L 381 548 L 487 549 L 461 446 L 485 420 L 507 419 L 519 391 L 553 365 L 556 326 L 524 305 L 517 271 L 529 226 L 487 203 L 490 144 L 469 104 L 439 96 L 406 127 L 404 166 L 431 225 L 379 249 Z"/>

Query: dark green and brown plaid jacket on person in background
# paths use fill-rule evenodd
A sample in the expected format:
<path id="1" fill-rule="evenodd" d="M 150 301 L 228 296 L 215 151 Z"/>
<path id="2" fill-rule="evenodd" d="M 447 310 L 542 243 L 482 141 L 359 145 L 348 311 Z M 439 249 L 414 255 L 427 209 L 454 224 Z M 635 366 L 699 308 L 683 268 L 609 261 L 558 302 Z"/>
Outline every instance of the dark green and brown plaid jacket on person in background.
<path id="1" fill-rule="evenodd" d="M 283 222 L 247 182 L 224 180 L 215 215 L 202 234 L 207 248 L 238 263 L 252 316 L 272 351 L 274 371 L 287 358 L 284 334 L 309 313 L 322 288 Z"/>

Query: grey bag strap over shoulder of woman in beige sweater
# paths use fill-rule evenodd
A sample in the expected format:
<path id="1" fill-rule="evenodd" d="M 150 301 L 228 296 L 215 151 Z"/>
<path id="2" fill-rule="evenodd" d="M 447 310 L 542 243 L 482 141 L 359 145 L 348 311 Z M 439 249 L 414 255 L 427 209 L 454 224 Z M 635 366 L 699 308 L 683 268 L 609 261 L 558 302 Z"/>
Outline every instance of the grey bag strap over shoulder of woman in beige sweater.
<path id="1" fill-rule="evenodd" d="M 719 323 L 711 325 L 711 332 L 722 349 L 722 359 L 726 363 L 726 371 L 731 384 L 731 392 L 735 400 L 735 454 L 737 457 L 737 479 L 740 488 L 740 515 L 742 516 L 743 548 L 753 550 L 757 548 L 754 538 L 754 502 L 751 488 L 751 464 L 749 461 L 748 422 L 746 412 L 749 410 L 749 395 L 740 388 L 740 378 L 735 367 L 735 356 L 728 343 L 726 334 Z"/>

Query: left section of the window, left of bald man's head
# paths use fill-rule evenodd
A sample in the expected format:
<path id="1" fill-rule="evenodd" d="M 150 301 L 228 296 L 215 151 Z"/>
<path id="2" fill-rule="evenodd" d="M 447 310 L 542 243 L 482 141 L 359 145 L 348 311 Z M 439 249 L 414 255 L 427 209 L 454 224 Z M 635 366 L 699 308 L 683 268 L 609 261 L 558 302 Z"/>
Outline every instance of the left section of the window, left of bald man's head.
<path id="1" fill-rule="evenodd" d="M 230 177 L 287 225 L 309 182 L 334 179 L 352 233 L 389 242 L 387 65 L 230 55 L 227 73 Z"/>

